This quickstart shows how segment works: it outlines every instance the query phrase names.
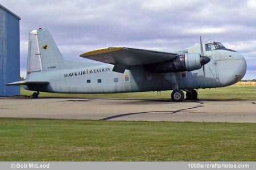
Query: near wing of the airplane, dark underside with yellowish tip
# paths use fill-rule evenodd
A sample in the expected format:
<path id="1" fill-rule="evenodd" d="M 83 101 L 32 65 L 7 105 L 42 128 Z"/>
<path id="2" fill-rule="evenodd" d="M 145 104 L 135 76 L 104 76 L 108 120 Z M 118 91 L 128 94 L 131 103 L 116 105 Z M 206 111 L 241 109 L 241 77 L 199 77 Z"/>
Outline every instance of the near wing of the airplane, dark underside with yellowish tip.
<path id="1" fill-rule="evenodd" d="M 164 62 L 170 59 L 174 59 L 176 56 L 176 53 L 158 52 L 153 50 L 126 47 L 102 48 L 80 55 L 80 57 L 83 58 L 113 64 L 113 71 L 118 73 L 123 73 L 125 69 L 130 69 L 131 66 Z"/>

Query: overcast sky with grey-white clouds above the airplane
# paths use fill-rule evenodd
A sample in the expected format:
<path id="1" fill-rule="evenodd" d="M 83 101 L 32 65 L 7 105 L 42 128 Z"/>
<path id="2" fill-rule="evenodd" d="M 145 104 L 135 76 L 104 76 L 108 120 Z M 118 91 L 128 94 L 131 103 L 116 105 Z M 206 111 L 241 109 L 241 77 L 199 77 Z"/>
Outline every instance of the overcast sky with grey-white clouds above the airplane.
<path id="1" fill-rule="evenodd" d="M 220 41 L 247 61 L 256 78 L 256 1 L 24 1 L 1 0 L 20 16 L 20 70 L 26 75 L 28 33 L 47 28 L 64 58 L 106 46 L 171 52 Z"/>

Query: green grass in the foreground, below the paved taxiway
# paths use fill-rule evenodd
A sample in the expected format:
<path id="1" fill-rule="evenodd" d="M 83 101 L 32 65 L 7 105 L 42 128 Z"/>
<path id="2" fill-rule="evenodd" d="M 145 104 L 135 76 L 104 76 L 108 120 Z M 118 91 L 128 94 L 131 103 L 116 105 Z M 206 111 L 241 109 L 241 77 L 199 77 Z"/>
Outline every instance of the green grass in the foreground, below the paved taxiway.
<path id="1" fill-rule="evenodd" d="M 256 124 L 0 118 L 0 161 L 256 161 Z"/>

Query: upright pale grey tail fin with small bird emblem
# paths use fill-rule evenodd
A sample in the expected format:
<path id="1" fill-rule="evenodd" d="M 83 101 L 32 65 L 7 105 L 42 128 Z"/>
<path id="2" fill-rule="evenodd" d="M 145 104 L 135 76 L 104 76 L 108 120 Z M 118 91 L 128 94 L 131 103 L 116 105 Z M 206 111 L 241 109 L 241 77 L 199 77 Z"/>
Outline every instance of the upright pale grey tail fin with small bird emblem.
<path id="1" fill-rule="evenodd" d="M 64 67 L 64 58 L 47 29 L 30 32 L 28 44 L 27 73 L 51 71 Z"/>

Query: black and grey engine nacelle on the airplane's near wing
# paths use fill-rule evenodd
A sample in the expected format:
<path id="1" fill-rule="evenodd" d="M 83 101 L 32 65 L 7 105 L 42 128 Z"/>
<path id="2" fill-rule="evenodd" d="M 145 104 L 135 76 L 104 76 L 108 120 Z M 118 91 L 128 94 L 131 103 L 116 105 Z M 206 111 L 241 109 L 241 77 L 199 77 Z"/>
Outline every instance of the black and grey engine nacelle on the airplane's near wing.
<path id="1" fill-rule="evenodd" d="M 201 69 L 199 53 L 186 53 L 175 57 L 169 61 L 145 65 L 146 69 L 152 73 L 171 73 L 179 71 L 192 71 Z"/>

